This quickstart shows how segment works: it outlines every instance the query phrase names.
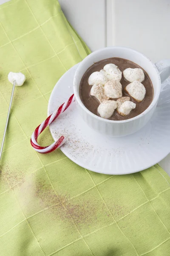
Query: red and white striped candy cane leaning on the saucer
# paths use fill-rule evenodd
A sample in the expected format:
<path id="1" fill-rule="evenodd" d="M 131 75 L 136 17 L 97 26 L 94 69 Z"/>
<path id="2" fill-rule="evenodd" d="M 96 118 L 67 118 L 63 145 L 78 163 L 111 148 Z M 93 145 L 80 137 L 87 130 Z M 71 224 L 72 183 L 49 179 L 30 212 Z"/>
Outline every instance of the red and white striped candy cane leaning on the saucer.
<path id="1" fill-rule="evenodd" d="M 74 94 L 71 95 L 71 97 L 68 99 L 67 102 L 64 102 L 54 113 L 52 113 L 50 116 L 45 119 L 44 122 L 42 122 L 33 132 L 31 136 L 31 145 L 34 148 L 35 151 L 46 154 L 54 151 L 55 149 L 59 148 L 61 145 L 65 143 L 65 137 L 61 136 L 57 141 L 52 143 L 49 146 L 41 147 L 37 143 L 38 136 L 44 131 L 44 129 L 50 125 L 57 117 L 63 113 L 73 102 L 75 101 Z"/>

